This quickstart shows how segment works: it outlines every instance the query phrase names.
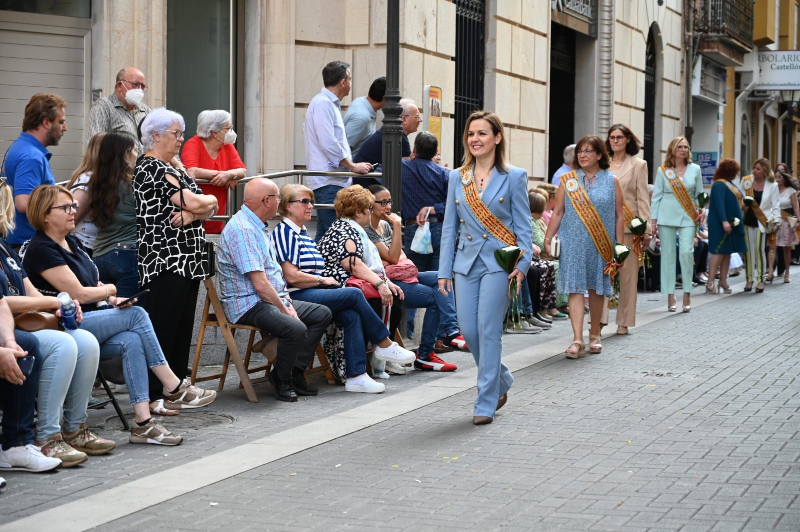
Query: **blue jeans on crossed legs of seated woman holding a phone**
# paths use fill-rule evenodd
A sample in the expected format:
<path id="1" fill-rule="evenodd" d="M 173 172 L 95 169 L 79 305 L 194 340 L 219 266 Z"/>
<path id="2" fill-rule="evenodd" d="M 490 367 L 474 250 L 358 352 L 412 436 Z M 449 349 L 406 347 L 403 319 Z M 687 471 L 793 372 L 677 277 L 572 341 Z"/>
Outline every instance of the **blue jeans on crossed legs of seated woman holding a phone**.
<path id="1" fill-rule="evenodd" d="M 147 368 L 164 366 L 166 359 L 145 309 L 128 307 L 86 312 L 81 328 L 98 339 L 102 357 L 122 356 L 122 374 L 130 402 L 150 401 Z"/>

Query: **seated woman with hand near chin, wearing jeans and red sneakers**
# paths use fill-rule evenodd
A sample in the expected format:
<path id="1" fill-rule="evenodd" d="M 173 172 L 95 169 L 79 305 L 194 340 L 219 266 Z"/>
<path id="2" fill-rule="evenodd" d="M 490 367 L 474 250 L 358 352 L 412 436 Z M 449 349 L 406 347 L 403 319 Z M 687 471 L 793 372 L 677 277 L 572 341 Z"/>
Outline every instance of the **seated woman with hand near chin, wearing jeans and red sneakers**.
<path id="1" fill-rule="evenodd" d="M 445 362 L 434 352 L 440 320 L 438 309 L 446 308 L 447 305 L 446 297 L 437 290 L 438 272 L 419 272 L 403 252 L 402 220 L 392 212 L 392 196 L 389 190 L 383 185 L 370 185 L 366 189 L 375 197 L 366 234 L 381 254 L 386 276 L 402 288 L 405 294 L 403 300 L 394 299 L 389 330 L 394 332 L 398 328 L 402 308 L 426 309 L 414 368 L 421 371 L 454 371 L 458 368 L 455 364 Z M 392 367 L 389 363 L 386 364 L 386 369 L 401 375 L 405 373 L 405 368 Z"/>

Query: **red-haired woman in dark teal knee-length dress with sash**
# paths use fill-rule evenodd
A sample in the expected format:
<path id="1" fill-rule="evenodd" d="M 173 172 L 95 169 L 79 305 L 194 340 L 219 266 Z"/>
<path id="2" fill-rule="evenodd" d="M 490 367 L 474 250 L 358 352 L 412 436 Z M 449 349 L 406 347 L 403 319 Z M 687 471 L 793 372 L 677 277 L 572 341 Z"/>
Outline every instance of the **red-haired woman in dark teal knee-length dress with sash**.
<path id="1" fill-rule="evenodd" d="M 747 252 L 744 224 L 741 223 L 741 193 L 731 184 L 738 173 L 739 164 L 733 159 L 723 160 L 714 173 L 714 185 L 711 187 L 711 199 L 708 204 L 708 248 L 711 260 L 706 294 L 717 294 L 720 290 L 730 294 L 730 287 L 726 283 L 730 254 Z M 730 222 L 734 218 L 739 220 L 736 226 Z M 719 284 L 715 288 L 714 276 L 717 274 L 717 268 L 719 268 Z"/>

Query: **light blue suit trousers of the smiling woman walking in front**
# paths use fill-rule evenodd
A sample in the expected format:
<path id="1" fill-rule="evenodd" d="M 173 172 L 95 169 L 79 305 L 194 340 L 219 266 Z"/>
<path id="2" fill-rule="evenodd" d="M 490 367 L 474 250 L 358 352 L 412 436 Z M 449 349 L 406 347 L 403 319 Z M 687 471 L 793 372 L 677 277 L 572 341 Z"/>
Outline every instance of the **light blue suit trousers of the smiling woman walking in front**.
<path id="1" fill-rule="evenodd" d="M 458 325 L 478 365 L 478 398 L 474 415 L 494 418 L 498 399 L 509 391 L 514 377 L 501 362 L 502 325 L 509 300 L 508 274 L 489 273 L 478 259 L 468 275 L 454 276 Z"/>

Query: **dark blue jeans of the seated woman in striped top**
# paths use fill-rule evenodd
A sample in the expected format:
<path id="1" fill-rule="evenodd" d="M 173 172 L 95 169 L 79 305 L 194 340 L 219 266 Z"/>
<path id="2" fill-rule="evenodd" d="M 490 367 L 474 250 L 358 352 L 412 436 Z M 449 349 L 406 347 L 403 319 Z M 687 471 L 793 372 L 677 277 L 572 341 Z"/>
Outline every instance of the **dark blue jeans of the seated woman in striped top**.
<path id="1" fill-rule="evenodd" d="M 303 288 L 291 293 L 292 299 L 330 308 L 334 321 L 344 329 L 347 376 L 366 373 L 364 338 L 377 345 L 389 337 L 389 329 L 364 299 L 358 288 Z"/>

